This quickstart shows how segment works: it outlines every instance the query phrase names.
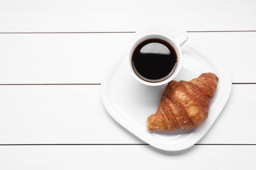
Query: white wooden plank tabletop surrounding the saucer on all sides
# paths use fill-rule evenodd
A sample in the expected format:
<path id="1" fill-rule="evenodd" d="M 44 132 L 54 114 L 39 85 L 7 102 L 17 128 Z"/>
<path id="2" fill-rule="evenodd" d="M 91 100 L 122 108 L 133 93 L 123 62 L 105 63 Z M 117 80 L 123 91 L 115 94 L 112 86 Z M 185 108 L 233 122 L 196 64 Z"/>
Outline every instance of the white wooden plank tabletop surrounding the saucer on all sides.
<path id="1" fill-rule="evenodd" d="M 171 24 L 228 63 L 232 93 L 182 152 L 140 141 L 100 82 L 135 31 Z M 0 169 L 256 169 L 256 1 L 0 1 Z"/>

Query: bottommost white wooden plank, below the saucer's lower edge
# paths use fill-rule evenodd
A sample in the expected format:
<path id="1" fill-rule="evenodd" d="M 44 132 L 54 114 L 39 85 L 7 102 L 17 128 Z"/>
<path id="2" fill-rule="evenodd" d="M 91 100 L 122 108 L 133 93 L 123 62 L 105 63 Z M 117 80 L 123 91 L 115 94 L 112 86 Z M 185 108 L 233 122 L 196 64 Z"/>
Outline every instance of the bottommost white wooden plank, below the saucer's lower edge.
<path id="1" fill-rule="evenodd" d="M 0 146 L 5 169 L 255 169 L 256 146 Z"/>

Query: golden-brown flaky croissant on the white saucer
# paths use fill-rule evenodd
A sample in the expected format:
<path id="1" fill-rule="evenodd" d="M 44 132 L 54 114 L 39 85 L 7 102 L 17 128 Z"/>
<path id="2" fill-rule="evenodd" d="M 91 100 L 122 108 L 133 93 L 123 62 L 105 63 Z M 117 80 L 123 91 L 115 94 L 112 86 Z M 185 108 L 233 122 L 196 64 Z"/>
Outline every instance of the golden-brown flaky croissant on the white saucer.
<path id="1" fill-rule="evenodd" d="M 203 73 L 189 82 L 172 80 L 165 87 L 155 114 L 148 116 L 149 131 L 195 129 L 208 117 L 219 78 Z"/>

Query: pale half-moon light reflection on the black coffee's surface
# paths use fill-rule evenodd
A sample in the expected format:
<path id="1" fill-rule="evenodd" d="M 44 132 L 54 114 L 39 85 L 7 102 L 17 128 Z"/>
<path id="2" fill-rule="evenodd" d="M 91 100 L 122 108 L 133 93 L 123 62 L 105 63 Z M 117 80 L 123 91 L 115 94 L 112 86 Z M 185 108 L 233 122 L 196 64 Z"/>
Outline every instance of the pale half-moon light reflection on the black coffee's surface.
<path id="1" fill-rule="evenodd" d="M 170 50 L 167 48 L 167 46 L 160 44 L 158 42 L 146 44 L 140 49 L 140 52 L 144 54 L 170 54 Z"/>

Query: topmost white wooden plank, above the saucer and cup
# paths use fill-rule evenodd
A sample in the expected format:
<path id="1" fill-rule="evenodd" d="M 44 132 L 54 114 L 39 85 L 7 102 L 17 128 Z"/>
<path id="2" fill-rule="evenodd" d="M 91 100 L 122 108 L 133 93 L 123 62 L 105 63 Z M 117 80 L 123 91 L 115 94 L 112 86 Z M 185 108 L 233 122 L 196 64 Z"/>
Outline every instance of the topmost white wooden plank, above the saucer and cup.
<path id="1" fill-rule="evenodd" d="M 0 32 L 137 31 L 173 24 L 186 31 L 255 30 L 256 1 L 0 2 Z"/>

